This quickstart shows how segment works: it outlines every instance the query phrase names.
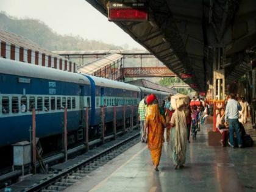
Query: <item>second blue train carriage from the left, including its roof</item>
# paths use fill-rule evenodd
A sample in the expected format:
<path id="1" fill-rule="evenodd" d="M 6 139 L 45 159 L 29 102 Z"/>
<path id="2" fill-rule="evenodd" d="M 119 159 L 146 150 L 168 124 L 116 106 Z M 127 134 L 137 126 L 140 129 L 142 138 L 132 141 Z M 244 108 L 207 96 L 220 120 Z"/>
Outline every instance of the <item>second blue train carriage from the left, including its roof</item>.
<path id="1" fill-rule="evenodd" d="M 135 126 L 137 122 L 137 106 L 140 98 L 140 89 L 135 85 L 125 84 L 115 80 L 86 76 L 91 81 L 90 140 L 99 138 L 102 135 L 101 107 L 103 106 L 105 111 L 105 136 L 113 134 L 114 107 L 116 108 L 117 132 L 125 130 L 124 115 L 125 127 L 131 126 L 130 118 L 132 118 L 133 126 Z"/>

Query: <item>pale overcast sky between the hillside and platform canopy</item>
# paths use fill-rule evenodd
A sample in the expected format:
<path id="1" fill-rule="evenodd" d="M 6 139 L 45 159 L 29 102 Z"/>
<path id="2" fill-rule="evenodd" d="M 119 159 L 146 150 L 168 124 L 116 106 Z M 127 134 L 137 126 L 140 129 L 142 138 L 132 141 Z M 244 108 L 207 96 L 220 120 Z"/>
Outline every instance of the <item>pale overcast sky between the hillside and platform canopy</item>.
<path id="1" fill-rule="evenodd" d="M 61 35 L 144 49 L 85 0 L 0 0 L 1 11 L 17 18 L 41 20 Z"/>

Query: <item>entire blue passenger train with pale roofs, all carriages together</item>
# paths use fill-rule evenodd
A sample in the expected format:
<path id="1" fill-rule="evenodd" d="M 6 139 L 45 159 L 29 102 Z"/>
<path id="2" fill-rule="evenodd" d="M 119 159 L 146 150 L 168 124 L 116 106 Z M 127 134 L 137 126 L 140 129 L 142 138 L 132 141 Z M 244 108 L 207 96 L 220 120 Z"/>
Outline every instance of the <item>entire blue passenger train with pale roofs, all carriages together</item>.
<path id="1" fill-rule="evenodd" d="M 149 93 L 156 94 L 158 99 L 169 94 L 100 77 L 0 59 L 0 148 L 29 141 L 32 108 L 36 110 L 37 137 L 51 148 L 57 148 L 57 144 L 62 143 L 59 136 L 63 133 L 64 107 L 68 110 L 70 144 L 82 140 L 86 107 L 89 139 L 94 140 L 101 137 L 102 106 L 107 135 L 113 133 L 114 106 L 117 129 L 121 129 L 123 114 L 127 123 L 129 118 L 135 121 L 138 102 Z"/>

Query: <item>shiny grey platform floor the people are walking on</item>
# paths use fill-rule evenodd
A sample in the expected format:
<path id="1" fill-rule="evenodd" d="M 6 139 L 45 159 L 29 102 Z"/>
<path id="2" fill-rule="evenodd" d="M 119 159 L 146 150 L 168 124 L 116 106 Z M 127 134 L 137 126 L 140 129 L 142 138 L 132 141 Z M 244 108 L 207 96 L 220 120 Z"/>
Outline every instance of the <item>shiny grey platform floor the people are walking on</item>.
<path id="1" fill-rule="evenodd" d="M 155 171 L 146 144 L 138 143 L 66 191 L 256 191 L 256 148 L 209 147 L 207 126 L 188 144 L 183 169 L 174 170 L 165 144 Z"/>

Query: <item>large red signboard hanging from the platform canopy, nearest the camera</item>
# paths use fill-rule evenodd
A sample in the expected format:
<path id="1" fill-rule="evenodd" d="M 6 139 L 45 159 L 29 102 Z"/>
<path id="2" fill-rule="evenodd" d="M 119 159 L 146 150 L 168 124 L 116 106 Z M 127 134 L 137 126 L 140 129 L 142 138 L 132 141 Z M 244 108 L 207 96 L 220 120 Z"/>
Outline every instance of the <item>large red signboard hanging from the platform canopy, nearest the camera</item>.
<path id="1" fill-rule="evenodd" d="M 109 2 L 108 21 L 147 21 L 148 10 L 144 2 Z"/>

